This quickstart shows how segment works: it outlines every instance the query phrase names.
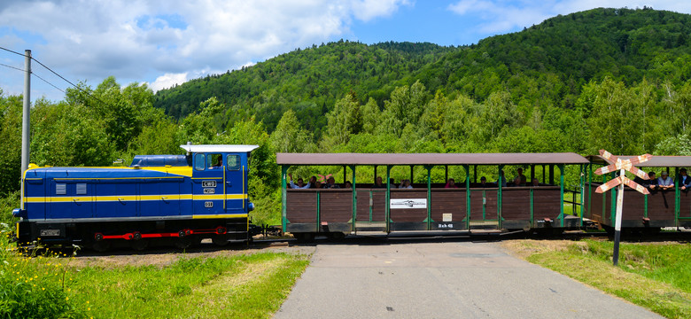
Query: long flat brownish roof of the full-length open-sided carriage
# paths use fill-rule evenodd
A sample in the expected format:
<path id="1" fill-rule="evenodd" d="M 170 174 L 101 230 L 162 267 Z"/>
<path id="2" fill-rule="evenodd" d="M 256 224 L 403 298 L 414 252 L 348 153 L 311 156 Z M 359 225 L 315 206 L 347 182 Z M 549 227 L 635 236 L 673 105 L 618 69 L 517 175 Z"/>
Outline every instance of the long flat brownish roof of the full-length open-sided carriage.
<path id="1" fill-rule="evenodd" d="M 277 153 L 279 165 L 499 165 L 587 164 L 563 153 Z"/>

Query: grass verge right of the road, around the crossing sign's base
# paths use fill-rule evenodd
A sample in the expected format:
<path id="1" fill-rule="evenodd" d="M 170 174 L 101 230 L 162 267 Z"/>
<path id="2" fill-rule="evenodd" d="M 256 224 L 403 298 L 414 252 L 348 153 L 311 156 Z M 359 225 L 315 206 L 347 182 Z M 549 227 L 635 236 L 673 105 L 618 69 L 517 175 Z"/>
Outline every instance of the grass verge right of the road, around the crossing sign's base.
<path id="1" fill-rule="evenodd" d="M 668 318 L 691 318 L 691 245 L 520 240 L 505 244 L 526 261 L 550 268 Z"/>

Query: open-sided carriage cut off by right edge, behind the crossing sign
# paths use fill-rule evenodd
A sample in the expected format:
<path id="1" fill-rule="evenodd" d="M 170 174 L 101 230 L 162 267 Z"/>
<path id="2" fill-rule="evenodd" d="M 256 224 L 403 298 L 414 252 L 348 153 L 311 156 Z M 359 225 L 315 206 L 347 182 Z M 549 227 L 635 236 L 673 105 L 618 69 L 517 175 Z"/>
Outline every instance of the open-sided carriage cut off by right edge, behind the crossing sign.
<path id="1" fill-rule="evenodd" d="M 620 159 L 633 159 L 633 156 L 619 156 Z M 591 161 L 586 182 L 586 213 L 585 217 L 599 222 L 605 230 L 612 231 L 615 224 L 617 210 L 617 190 L 596 193 L 595 189 L 607 183 L 614 177 L 609 175 L 594 175 L 594 169 L 608 165 L 600 155 L 588 156 Z M 654 190 L 649 195 L 641 194 L 633 189 L 625 188 L 624 207 L 621 226 L 625 232 L 655 233 L 664 227 L 691 227 L 691 195 L 689 190 L 679 188 L 679 169 L 691 167 L 691 156 L 653 156 L 646 162 L 636 165 L 642 167 L 646 173 L 660 170 L 669 172 L 675 179 L 675 187 L 671 190 Z M 656 167 L 657 169 L 654 169 Z M 670 172 L 670 168 L 674 168 Z M 599 180 L 599 181 L 598 181 Z"/>

